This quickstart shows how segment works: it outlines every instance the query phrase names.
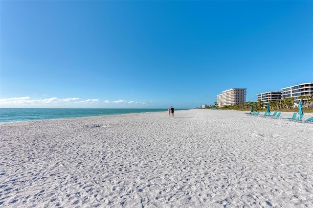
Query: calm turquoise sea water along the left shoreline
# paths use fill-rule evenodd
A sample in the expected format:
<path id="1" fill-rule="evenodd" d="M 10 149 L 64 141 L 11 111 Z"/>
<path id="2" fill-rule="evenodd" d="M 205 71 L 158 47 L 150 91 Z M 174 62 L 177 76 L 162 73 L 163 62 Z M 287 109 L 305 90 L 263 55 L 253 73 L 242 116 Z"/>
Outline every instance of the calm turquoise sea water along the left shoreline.
<path id="1" fill-rule="evenodd" d="M 0 108 L 0 123 L 162 111 L 167 112 L 167 109 Z"/>

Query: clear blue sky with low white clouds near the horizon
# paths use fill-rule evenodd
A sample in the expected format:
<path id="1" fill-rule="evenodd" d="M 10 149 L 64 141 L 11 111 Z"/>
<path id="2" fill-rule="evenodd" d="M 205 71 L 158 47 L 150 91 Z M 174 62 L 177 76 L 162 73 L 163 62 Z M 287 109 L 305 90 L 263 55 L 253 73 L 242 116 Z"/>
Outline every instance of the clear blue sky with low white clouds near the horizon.
<path id="1" fill-rule="evenodd" d="M 0 1 L 0 107 L 194 108 L 313 82 L 313 1 Z"/>

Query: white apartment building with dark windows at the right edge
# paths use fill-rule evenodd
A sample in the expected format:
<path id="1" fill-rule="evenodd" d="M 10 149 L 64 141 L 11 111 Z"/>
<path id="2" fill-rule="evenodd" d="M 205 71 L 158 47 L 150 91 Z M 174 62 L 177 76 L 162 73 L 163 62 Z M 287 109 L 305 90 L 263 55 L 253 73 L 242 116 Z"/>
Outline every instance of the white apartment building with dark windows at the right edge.
<path id="1" fill-rule="evenodd" d="M 281 95 L 283 97 L 294 97 L 293 103 L 300 101 L 301 95 L 313 95 L 313 82 L 302 83 L 293 85 L 290 87 L 284 87 L 281 89 Z"/>

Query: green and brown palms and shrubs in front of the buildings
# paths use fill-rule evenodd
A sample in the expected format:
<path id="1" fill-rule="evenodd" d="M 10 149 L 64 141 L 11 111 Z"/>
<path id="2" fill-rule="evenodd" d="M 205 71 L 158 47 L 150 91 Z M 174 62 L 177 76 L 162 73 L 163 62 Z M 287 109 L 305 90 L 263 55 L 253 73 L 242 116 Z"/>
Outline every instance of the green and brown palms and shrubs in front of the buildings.
<path id="1" fill-rule="evenodd" d="M 313 108 L 310 107 L 313 103 L 312 95 L 301 95 L 299 96 L 303 102 L 302 111 L 304 113 L 313 113 Z M 269 101 L 269 110 L 270 111 L 281 111 L 281 112 L 297 112 L 298 107 L 293 104 L 294 97 L 284 97 L 281 100 Z M 257 102 L 246 102 L 245 104 L 235 104 L 235 105 L 227 105 L 223 107 L 218 107 L 218 103 L 215 102 L 214 106 L 207 107 L 208 109 L 221 109 L 221 110 L 237 110 L 237 111 L 249 111 L 251 109 L 251 105 L 253 106 L 254 111 L 266 111 L 267 103 L 262 100 L 258 100 Z"/>

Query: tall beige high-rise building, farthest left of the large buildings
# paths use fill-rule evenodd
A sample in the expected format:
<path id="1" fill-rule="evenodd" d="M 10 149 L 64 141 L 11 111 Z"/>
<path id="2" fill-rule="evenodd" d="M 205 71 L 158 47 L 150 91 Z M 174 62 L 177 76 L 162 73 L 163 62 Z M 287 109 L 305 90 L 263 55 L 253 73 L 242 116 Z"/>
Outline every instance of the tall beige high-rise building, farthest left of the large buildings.
<path id="1" fill-rule="evenodd" d="M 246 88 L 231 88 L 217 95 L 219 107 L 226 105 L 244 104 L 246 102 Z"/>

